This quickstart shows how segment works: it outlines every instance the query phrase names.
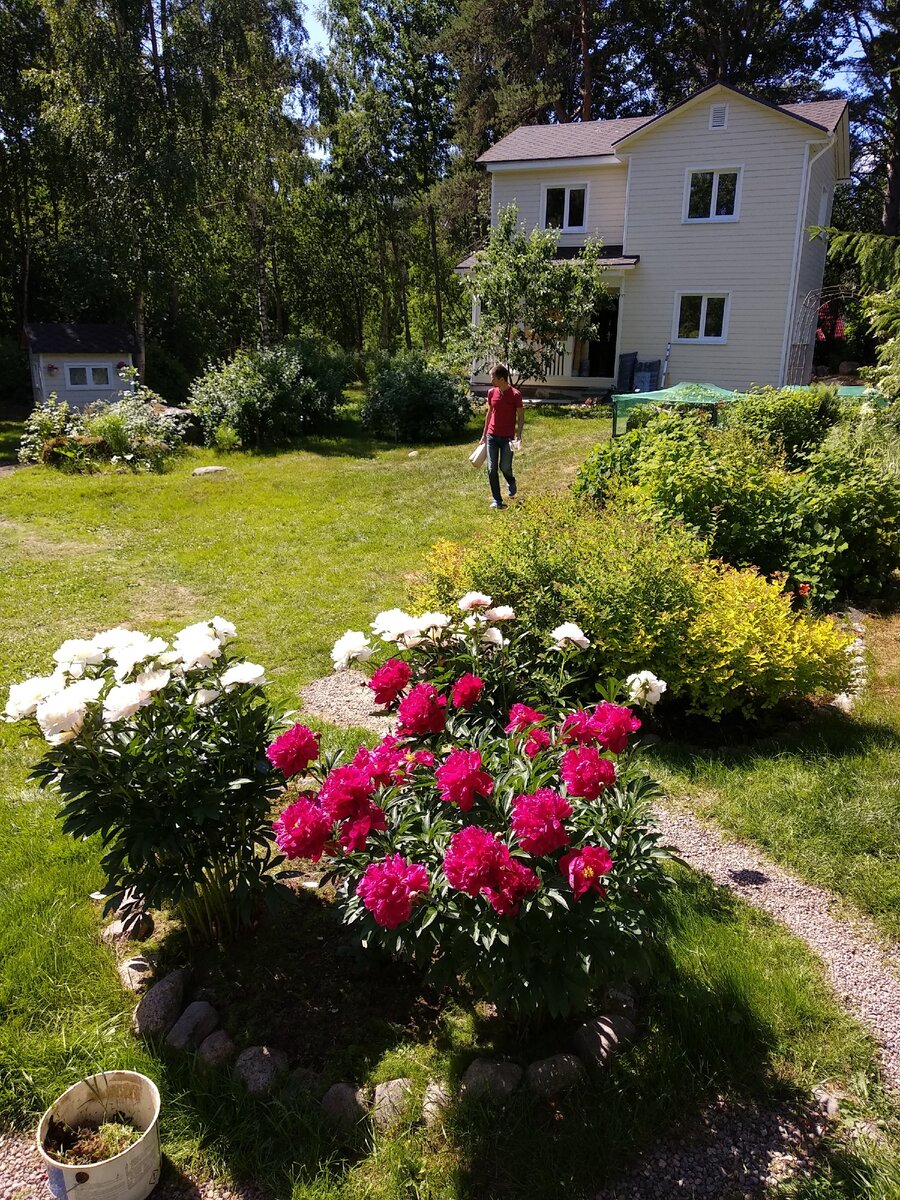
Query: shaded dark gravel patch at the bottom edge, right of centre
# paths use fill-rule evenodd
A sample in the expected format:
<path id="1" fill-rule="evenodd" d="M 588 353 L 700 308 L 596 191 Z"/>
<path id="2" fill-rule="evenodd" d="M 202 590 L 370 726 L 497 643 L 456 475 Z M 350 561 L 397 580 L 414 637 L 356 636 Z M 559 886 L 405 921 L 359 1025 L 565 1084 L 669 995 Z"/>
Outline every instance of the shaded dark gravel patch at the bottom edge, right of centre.
<path id="1" fill-rule="evenodd" d="M 778 1183 L 814 1174 L 823 1132 L 812 1112 L 720 1097 L 594 1200 L 762 1200 Z"/>

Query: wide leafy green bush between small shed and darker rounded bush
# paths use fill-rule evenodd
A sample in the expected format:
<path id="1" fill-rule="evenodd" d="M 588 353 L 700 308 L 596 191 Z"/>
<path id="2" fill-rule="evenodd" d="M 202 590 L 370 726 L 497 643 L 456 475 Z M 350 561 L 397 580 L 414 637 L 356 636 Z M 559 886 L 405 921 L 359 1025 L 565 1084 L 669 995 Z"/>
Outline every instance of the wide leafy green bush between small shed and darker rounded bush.
<path id="1" fill-rule="evenodd" d="M 334 416 L 332 373 L 326 392 L 306 373 L 299 353 L 283 346 L 238 350 L 210 367 L 191 386 L 191 407 L 200 419 L 206 445 L 217 431 L 234 430 L 245 449 L 278 445 L 323 428 Z"/>

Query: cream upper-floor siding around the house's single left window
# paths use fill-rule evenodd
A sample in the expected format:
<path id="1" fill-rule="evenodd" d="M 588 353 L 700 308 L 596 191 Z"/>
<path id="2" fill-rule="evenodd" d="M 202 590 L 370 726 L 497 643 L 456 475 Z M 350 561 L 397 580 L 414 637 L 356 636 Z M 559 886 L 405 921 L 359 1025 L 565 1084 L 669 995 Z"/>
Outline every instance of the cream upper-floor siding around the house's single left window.
<path id="1" fill-rule="evenodd" d="M 541 170 L 497 172 L 491 191 L 491 223 L 497 223 L 502 209 L 515 203 L 527 229 L 544 226 L 541 210 L 546 187 L 588 186 L 588 206 L 584 233 L 564 233 L 560 246 L 580 246 L 587 235 L 600 236 L 607 246 L 620 246 L 625 228 L 624 163 L 590 167 L 544 168 Z"/>

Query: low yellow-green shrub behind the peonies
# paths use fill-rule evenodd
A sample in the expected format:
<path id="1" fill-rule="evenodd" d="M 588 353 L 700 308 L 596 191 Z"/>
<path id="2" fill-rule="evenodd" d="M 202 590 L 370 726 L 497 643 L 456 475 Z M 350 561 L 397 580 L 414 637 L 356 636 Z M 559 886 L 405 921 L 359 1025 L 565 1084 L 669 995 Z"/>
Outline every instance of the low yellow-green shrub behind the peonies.
<path id="1" fill-rule="evenodd" d="M 622 503 L 524 503 L 464 551 L 439 546 L 418 586 L 425 606 L 461 589 L 510 604 L 540 641 L 571 619 L 590 638 L 587 679 L 650 670 L 665 703 L 718 719 L 848 684 L 850 638 L 830 619 L 794 612 L 779 583 L 704 560 L 686 530 Z"/>

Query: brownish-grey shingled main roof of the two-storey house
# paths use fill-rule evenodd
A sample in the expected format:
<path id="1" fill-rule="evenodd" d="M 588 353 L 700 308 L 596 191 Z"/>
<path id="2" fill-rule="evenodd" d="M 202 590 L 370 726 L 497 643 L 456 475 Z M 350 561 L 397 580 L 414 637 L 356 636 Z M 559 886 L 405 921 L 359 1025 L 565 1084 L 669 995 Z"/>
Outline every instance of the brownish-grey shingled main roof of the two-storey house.
<path id="1" fill-rule="evenodd" d="M 726 86 L 713 84 L 713 88 Z M 704 88 L 703 91 L 712 89 Z M 727 88 L 728 91 L 737 91 L 738 88 Z M 702 92 L 673 106 L 680 108 L 683 104 L 695 100 Z M 746 96 L 748 100 L 756 100 L 755 96 Z M 816 100 L 804 104 L 769 104 L 767 101 L 757 100 L 757 103 L 787 116 L 796 116 L 806 125 L 812 125 L 833 133 L 847 107 L 846 100 Z M 666 109 L 666 113 L 673 109 Z M 492 162 L 530 162 L 545 158 L 600 158 L 616 154 L 616 143 L 623 138 L 636 133 L 644 125 L 658 121 L 666 113 L 655 113 L 650 116 L 629 116 L 618 121 L 571 121 L 566 125 L 520 125 L 517 130 L 500 138 L 497 145 L 486 150 L 478 160 L 480 163 Z"/>

